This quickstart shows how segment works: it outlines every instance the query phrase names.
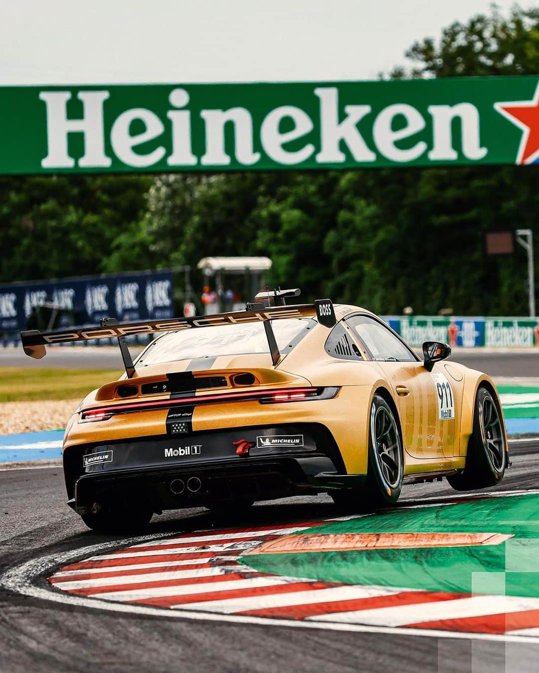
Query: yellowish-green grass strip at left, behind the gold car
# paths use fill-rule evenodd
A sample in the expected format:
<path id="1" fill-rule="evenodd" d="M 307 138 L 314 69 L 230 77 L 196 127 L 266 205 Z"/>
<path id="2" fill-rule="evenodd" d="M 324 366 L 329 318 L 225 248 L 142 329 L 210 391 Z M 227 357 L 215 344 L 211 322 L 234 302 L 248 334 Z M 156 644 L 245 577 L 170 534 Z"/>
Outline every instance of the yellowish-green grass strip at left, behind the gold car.
<path id="1" fill-rule="evenodd" d="M 0 367 L 0 402 L 82 400 L 120 374 L 117 369 Z"/>

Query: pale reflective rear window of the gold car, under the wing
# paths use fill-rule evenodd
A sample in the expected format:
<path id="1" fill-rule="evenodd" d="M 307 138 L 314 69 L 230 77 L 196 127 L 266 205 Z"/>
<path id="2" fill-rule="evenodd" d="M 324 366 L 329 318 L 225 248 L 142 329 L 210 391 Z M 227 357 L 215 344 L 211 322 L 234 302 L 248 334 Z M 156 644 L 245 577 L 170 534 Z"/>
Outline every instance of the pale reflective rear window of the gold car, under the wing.
<path id="1" fill-rule="evenodd" d="M 307 334 L 307 327 L 317 323 L 312 318 L 272 320 L 275 339 L 280 352 L 290 353 Z M 137 365 L 157 365 L 163 362 L 191 360 L 196 357 L 270 353 L 262 322 L 179 330 L 156 339 Z"/>

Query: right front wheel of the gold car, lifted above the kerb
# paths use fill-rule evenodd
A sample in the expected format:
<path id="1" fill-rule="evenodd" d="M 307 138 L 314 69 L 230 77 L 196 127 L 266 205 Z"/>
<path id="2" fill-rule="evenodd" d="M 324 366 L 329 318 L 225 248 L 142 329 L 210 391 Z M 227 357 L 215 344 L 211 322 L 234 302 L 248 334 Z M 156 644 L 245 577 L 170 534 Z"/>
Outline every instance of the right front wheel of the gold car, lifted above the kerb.
<path id="1" fill-rule="evenodd" d="M 486 489 L 501 482 L 507 467 L 503 417 L 497 400 L 483 386 L 476 394 L 474 428 L 468 440 L 466 466 L 447 477 L 455 491 Z"/>

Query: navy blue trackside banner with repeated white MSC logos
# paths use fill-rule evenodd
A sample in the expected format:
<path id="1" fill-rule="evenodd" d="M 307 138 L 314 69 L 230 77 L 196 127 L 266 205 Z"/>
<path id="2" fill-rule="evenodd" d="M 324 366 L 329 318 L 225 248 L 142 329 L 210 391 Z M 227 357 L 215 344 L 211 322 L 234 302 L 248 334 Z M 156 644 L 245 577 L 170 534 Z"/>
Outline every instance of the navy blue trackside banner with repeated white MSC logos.
<path id="1" fill-rule="evenodd" d="M 0 332 L 173 315 L 170 271 L 0 285 Z"/>

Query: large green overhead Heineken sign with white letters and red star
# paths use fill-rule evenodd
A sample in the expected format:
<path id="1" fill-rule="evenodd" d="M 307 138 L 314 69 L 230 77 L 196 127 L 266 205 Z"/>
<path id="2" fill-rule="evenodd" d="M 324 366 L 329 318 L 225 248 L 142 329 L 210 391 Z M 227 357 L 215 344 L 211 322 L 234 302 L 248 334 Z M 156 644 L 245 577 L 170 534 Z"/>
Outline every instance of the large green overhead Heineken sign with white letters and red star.
<path id="1" fill-rule="evenodd" d="M 538 83 L 0 87 L 0 174 L 534 164 Z"/>

